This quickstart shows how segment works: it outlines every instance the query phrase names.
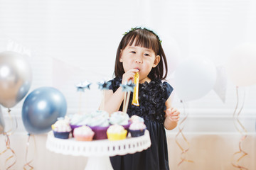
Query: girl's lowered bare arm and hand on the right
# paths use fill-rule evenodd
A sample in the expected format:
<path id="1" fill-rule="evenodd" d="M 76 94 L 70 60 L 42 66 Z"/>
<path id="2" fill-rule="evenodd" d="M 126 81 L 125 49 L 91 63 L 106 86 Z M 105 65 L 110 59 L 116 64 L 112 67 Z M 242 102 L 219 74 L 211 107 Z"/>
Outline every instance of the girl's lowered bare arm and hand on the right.
<path id="1" fill-rule="evenodd" d="M 166 119 L 164 120 L 164 128 L 173 130 L 176 128 L 179 120 L 180 112 L 176 108 L 171 107 L 171 96 L 166 101 Z"/>

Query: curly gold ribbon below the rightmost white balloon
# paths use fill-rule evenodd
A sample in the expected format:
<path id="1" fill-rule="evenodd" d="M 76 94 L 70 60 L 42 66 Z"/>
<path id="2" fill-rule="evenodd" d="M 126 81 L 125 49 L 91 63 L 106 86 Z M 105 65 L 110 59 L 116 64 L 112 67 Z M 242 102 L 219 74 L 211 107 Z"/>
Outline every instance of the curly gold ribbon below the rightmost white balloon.
<path id="1" fill-rule="evenodd" d="M 243 157 L 245 157 L 245 156 L 247 155 L 247 153 L 246 153 L 246 152 L 242 149 L 242 147 L 241 147 L 242 141 L 245 140 L 246 137 L 247 137 L 247 130 L 245 129 L 245 127 L 242 125 L 242 123 L 240 122 L 240 120 L 239 120 L 239 118 L 238 118 L 238 116 L 240 115 L 240 113 L 241 113 L 241 111 L 242 111 L 242 108 L 243 108 L 243 106 L 244 106 L 244 104 L 245 104 L 245 93 L 244 93 L 244 95 L 243 95 L 242 106 L 241 106 L 241 108 L 240 108 L 240 111 L 238 111 L 238 113 L 237 113 L 237 110 L 238 110 L 238 103 L 239 103 L 238 86 L 236 87 L 236 96 L 237 96 L 237 103 L 236 103 L 236 106 L 235 106 L 235 111 L 234 111 L 234 113 L 233 113 L 233 121 L 234 121 L 235 128 L 238 130 L 238 132 L 240 132 L 240 134 L 242 135 L 242 137 L 240 138 L 239 145 L 238 145 L 239 151 L 238 151 L 238 152 L 235 152 L 235 153 L 233 154 L 232 163 L 231 163 L 231 164 L 232 164 L 235 168 L 238 168 L 238 169 L 240 169 L 240 170 L 242 170 L 242 169 L 247 170 L 247 168 L 246 168 L 245 166 L 240 166 L 240 165 L 238 164 L 238 163 L 240 162 L 240 160 L 241 160 Z M 240 125 L 240 128 L 242 128 L 242 130 L 240 130 L 240 129 L 238 128 L 238 125 L 237 125 L 236 121 L 237 121 L 238 125 Z M 242 154 L 242 156 L 238 157 L 238 159 L 235 161 L 235 164 L 234 164 L 234 163 L 233 163 L 233 160 L 235 159 L 235 155 L 237 155 L 237 154 L 239 154 L 239 155 Z"/>

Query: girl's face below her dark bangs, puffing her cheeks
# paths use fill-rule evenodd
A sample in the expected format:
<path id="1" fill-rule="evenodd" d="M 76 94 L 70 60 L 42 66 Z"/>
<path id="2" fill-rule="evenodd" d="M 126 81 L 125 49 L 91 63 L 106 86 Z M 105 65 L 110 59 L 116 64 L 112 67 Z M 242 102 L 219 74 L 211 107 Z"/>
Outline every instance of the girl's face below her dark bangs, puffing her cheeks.
<path id="1" fill-rule="evenodd" d="M 129 69 L 139 69 L 140 83 L 150 81 L 148 74 L 153 67 L 159 64 L 160 56 L 149 48 L 134 46 L 134 44 L 127 45 L 124 50 L 121 50 L 119 62 L 122 62 L 124 72 Z"/>

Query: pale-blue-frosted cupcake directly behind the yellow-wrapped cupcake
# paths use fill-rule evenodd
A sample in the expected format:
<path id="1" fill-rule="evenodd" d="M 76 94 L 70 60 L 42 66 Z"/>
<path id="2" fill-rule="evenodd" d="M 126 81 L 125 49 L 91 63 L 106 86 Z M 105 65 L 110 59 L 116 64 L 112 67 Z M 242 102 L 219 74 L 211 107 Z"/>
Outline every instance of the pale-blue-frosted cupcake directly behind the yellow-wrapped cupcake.
<path id="1" fill-rule="evenodd" d="M 122 111 L 114 112 L 110 115 L 110 124 L 111 125 L 122 125 L 125 130 L 129 131 L 129 125 L 131 125 L 129 121 L 129 115 Z"/>

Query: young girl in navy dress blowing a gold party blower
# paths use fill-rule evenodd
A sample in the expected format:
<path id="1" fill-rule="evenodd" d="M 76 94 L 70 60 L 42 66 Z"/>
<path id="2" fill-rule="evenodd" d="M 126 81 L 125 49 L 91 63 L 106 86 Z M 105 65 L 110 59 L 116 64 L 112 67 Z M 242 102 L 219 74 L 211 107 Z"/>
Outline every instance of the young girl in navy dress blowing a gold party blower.
<path id="1" fill-rule="evenodd" d="M 164 74 L 164 68 L 166 69 Z M 127 113 L 144 118 L 149 130 L 151 147 L 142 152 L 110 157 L 114 170 L 169 169 L 166 132 L 176 127 L 179 111 L 171 107 L 173 88 L 162 82 L 166 78 L 167 62 L 158 35 L 146 28 L 132 28 L 122 38 L 117 49 L 115 78 L 105 94 L 105 110 L 122 111 L 124 92 L 120 84 L 134 81 L 139 72 L 139 106 L 129 98 Z M 132 96 L 132 94 L 131 94 Z"/>

